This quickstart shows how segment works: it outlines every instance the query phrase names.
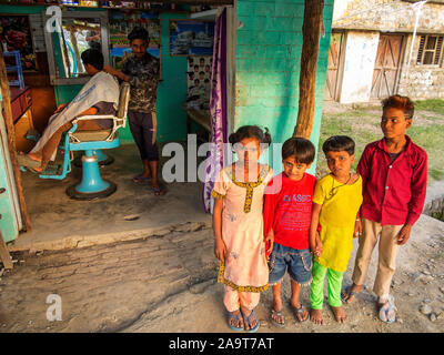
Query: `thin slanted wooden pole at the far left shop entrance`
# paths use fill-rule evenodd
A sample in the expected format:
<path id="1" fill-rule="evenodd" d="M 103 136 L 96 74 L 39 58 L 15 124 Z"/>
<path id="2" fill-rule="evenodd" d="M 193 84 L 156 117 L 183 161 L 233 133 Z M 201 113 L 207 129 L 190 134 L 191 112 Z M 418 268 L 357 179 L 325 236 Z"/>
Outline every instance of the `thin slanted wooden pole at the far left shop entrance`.
<path id="1" fill-rule="evenodd" d="M 11 156 L 12 170 L 16 180 L 17 192 L 19 195 L 20 212 L 23 219 L 27 231 L 31 231 L 31 220 L 29 219 L 27 203 L 23 195 L 23 186 L 21 184 L 20 166 L 17 161 L 16 150 L 16 132 L 13 126 L 12 110 L 11 110 L 11 95 L 9 94 L 9 80 L 7 74 L 7 67 L 3 60 L 3 50 L 0 45 L 0 82 L 1 82 L 1 95 L 3 97 L 3 109 L 4 109 L 4 123 L 7 126 L 8 135 L 8 148 Z"/>

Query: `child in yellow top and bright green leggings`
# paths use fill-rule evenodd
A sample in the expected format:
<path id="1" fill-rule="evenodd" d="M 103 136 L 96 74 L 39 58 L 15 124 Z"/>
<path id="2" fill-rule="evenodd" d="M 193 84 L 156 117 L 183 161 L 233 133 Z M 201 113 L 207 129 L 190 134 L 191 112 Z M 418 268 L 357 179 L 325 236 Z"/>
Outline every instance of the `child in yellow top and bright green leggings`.
<path id="1" fill-rule="evenodd" d="M 356 236 L 356 215 L 362 203 L 362 179 L 352 173 L 354 142 L 345 135 L 329 138 L 322 145 L 331 173 L 314 187 L 310 248 L 314 253 L 310 318 L 324 324 L 324 278 L 329 273 L 329 304 L 339 323 L 347 318 L 342 308 L 342 277 Z"/>

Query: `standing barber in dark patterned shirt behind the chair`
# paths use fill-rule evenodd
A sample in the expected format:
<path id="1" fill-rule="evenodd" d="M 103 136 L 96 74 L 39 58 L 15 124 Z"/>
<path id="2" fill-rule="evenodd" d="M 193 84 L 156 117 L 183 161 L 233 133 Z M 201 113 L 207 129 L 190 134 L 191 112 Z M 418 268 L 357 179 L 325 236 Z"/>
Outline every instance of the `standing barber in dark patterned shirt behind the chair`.
<path id="1" fill-rule="evenodd" d="M 159 59 L 147 52 L 150 38 L 144 28 L 135 27 L 128 36 L 132 55 L 118 71 L 110 65 L 104 71 L 128 81 L 131 85 L 128 120 L 130 130 L 139 148 L 143 162 L 143 172 L 133 178 L 134 182 L 152 179 L 155 195 L 163 195 L 164 189 L 159 184 L 159 148 L 157 143 L 155 100 L 159 82 Z"/>

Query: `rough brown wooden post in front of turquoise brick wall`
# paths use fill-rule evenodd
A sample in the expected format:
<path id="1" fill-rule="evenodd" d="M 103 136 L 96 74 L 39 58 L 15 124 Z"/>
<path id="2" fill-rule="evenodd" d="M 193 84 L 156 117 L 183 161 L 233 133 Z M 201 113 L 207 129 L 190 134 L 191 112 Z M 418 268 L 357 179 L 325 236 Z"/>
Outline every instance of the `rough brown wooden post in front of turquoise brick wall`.
<path id="1" fill-rule="evenodd" d="M 320 49 L 324 0 L 305 0 L 301 72 L 299 80 L 299 112 L 293 136 L 310 140 L 314 121 L 316 64 Z"/>

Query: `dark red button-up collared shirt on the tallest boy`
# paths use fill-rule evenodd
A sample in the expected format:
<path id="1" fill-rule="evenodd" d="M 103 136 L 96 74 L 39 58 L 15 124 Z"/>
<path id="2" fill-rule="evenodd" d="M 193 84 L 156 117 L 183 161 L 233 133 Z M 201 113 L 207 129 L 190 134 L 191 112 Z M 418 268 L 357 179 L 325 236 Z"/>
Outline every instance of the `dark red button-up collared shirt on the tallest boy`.
<path id="1" fill-rule="evenodd" d="M 405 139 L 405 149 L 393 162 L 385 139 L 365 146 L 357 164 L 364 219 L 382 225 L 413 225 L 420 217 L 427 187 L 427 153 L 408 135 Z"/>

